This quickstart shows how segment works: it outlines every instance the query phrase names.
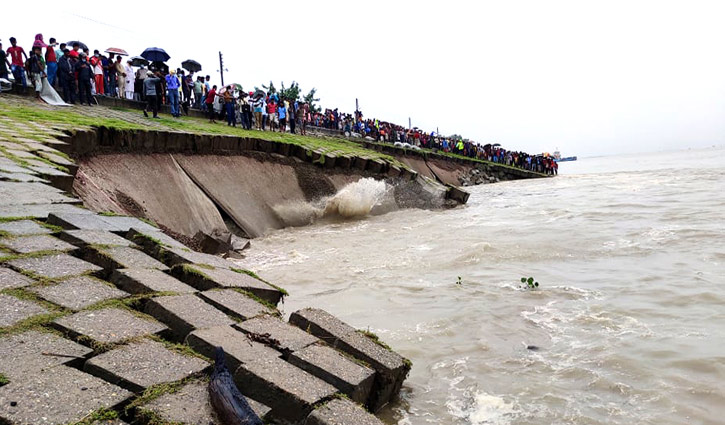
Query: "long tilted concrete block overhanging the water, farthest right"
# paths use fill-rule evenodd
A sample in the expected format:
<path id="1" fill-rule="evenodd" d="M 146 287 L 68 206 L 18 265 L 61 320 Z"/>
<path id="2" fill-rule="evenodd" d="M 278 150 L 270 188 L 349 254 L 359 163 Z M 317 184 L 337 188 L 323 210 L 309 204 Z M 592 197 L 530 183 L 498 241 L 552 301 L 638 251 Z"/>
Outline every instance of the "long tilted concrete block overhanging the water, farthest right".
<path id="1" fill-rule="evenodd" d="M 290 316 L 290 323 L 375 369 L 377 376 L 368 401 L 372 411 L 378 411 L 400 391 L 410 370 L 409 362 L 401 355 L 380 346 L 324 310 L 305 308 L 296 311 Z"/>

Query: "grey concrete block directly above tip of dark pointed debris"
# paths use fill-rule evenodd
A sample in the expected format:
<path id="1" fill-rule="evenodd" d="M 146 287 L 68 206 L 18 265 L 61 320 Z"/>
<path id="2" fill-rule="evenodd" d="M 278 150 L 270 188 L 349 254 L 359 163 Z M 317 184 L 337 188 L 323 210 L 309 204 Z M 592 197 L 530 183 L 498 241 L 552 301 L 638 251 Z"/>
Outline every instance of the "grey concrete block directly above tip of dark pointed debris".
<path id="1" fill-rule="evenodd" d="M 216 326 L 200 329 L 189 334 L 187 344 L 197 353 L 214 357 L 216 347 L 224 348 L 229 370 L 236 370 L 242 363 L 257 361 L 265 357 L 279 357 L 279 352 L 266 345 L 254 342 L 231 326 Z"/>

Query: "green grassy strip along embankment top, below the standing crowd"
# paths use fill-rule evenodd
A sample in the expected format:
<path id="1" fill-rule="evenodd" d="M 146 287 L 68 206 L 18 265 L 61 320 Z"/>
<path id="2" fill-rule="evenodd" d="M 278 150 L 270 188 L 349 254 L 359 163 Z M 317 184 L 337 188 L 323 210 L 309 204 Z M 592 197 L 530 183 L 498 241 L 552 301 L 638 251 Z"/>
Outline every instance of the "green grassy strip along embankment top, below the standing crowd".
<path id="1" fill-rule="evenodd" d="M 143 117 L 140 117 L 141 111 L 124 110 L 122 108 L 106 108 L 95 106 L 89 109 L 93 113 L 98 113 L 103 109 L 113 111 L 116 117 L 128 117 L 128 121 L 121 118 L 105 118 L 88 116 L 67 108 L 47 109 L 47 107 L 34 107 L 33 105 L 14 106 L 0 103 L 0 117 L 8 117 L 18 122 L 35 121 L 45 124 L 60 124 L 63 128 L 83 128 L 83 127 L 109 127 L 119 130 L 149 130 L 148 126 L 143 125 Z M 237 137 L 250 137 L 276 142 L 290 143 L 294 145 L 304 146 L 310 150 L 320 149 L 324 152 L 336 152 L 339 155 L 350 154 L 354 156 L 363 156 L 370 159 L 383 159 L 388 162 L 399 164 L 399 162 L 390 155 L 383 154 L 374 150 L 366 149 L 360 144 L 351 142 L 341 138 L 333 137 L 312 137 L 301 136 L 291 133 L 279 133 L 272 131 L 244 130 L 240 127 L 229 127 L 225 123 L 217 124 L 209 123 L 208 120 L 195 117 L 172 118 L 161 115 L 160 119 L 149 118 L 150 123 L 154 123 L 160 127 L 158 130 L 174 130 L 183 131 L 194 134 L 208 135 L 228 135 Z M 153 128 L 151 128 L 153 130 Z"/>

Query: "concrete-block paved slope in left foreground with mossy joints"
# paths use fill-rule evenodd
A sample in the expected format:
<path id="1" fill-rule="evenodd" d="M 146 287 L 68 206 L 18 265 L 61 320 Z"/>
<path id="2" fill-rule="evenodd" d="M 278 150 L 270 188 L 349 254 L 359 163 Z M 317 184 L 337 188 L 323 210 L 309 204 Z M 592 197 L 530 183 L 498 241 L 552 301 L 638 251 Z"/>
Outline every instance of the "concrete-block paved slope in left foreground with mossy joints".
<path id="1" fill-rule="evenodd" d="M 71 193 L 83 168 L 74 147 L 96 118 L 6 100 L 0 422 L 212 423 L 206 385 L 223 346 L 265 422 L 381 424 L 369 412 L 397 396 L 408 360 L 322 310 L 282 320 L 284 289 L 149 220 L 83 207 Z M 116 115 L 102 131 L 141 125 L 123 111 L 93 113 Z"/>

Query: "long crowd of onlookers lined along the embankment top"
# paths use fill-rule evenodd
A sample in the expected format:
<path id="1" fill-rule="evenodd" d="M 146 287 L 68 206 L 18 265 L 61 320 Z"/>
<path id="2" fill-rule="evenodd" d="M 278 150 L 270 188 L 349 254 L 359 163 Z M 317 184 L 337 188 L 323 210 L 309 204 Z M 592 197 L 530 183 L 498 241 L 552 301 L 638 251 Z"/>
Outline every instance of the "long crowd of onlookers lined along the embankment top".
<path id="1" fill-rule="evenodd" d="M 245 129 L 306 134 L 308 127 L 326 128 L 348 136 L 397 143 L 404 146 L 427 148 L 454 153 L 469 158 L 501 163 L 525 170 L 557 174 L 558 164 L 548 154 L 530 155 L 509 151 L 498 144 L 479 144 L 460 137 L 444 137 L 436 132 L 406 128 L 390 122 L 363 117 L 361 111 L 340 113 L 337 108 L 324 112 L 299 98 L 280 97 L 278 93 L 262 90 L 244 92 L 234 84 L 219 88 L 211 83 L 209 75 L 178 68 L 169 70 L 165 63 L 152 62 L 133 66 L 118 54 L 108 56 L 89 49 L 79 42 L 49 44 L 37 34 L 30 54 L 10 38 L 7 53 L 0 43 L 0 78 L 9 72 L 21 90 L 27 90 L 28 81 L 40 97 L 42 82 L 47 78 L 67 103 L 92 105 L 93 96 L 112 96 L 146 102 L 145 116 L 152 113 L 158 118 L 162 104 L 169 105 L 171 115 L 188 114 L 189 109 L 204 111 L 212 123 L 217 118 L 228 126 L 239 124 Z M 43 53 L 45 49 L 45 53 Z M 9 59 L 8 59 L 9 57 Z M 136 68 L 134 70 L 134 68 Z"/>

